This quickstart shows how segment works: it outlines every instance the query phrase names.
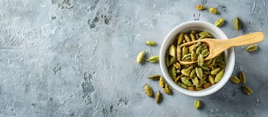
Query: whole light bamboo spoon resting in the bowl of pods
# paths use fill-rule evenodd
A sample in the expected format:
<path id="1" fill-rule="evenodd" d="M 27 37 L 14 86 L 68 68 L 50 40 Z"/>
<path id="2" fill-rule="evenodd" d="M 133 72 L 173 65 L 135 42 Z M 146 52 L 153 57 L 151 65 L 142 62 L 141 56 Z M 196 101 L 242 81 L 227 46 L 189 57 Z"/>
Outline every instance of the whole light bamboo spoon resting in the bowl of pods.
<path id="1" fill-rule="evenodd" d="M 261 42 L 264 40 L 264 33 L 262 32 L 256 32 L 256 33 L 251 33 L 243 36 L 239 36 L 233 39 L 200 39 L 200 40 L 195 40 L 191 42 L 184 43 L 180 45 L 180 47 L 188 46 L 188 45 L 193 45 L 194 43 L 197 42 L 203 42 L 208 45 L 208 51 L 209 55 L 204 58 L 204 60 L 207 59 L 212 59 L 225 51 L 226 49 L 230 47 L 237 47 L 237 46 L 242 46 L 242 45 L 247 45 L 247 44 L 253 44 L 257 42 Z M 184 60 L 180 60 L 181 63 L 183 64 L 190 64 L 190 63 L 195 63 L 195 61 L 189 61 L 186 62 Z"/>

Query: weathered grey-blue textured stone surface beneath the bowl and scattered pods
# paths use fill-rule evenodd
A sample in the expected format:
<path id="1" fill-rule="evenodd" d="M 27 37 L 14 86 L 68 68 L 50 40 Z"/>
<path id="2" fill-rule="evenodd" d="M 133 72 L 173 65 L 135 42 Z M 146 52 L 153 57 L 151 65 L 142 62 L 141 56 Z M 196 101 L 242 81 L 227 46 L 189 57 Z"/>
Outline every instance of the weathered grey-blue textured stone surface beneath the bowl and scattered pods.
<path id="1" fill-rule="evenodd" d="M 220 14 L 198 11 L 216 7 Z M 268 29 L 268 0 L 0 0 L 1 117 L 268 117 L 267 38 L 255 52 L 234 48 L 234 75 L 246 74 L 247 96 L 228 81 L 199 98 L 173 90 L 162 103 L 144 94 L 159 63 L 136 63 L 139 52 L 159 55 L 175 26 L 190 20 L 226 22 L 229 38 Z M 239 17 L 243 26 L 233 28 Z M 146 40 L 157 46 L 149 47 Z M 163 90 L 162 90 L 163 93 Z"/>

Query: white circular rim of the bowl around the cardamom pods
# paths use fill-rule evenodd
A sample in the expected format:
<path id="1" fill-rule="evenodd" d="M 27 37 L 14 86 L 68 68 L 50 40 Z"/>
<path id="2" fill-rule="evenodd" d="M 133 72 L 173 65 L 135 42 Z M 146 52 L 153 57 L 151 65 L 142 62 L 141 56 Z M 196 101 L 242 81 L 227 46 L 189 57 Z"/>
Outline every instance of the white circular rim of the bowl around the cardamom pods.
<path id="1" fill-rule="evenodd" d="M 226 56 L 228 58 L 228 68 L 225 68 L 225 75 L 223 76 L 223 78 L 220 80 L 220 82 L 217 83 L 216 86 L 214 86 L 211 89 L 208 90 L 201 90 L 201 91 L 190 91 L 190 90 L 186 90 L 184 88 L 182 88 L 181 86 L 179 86 L 177 83 L 174 82 L 174 80 L 172 78 L 170 78 L 168 72 L 167 72 L 167 67 L 165 66 L 165 54 L 166 54 L 166 50 L 169 47 L 168 43 L 170 40 L 172 40 L 174 38 L 175 35 L 177 35 L 179 32 L 182 32 L 183 30 L 186 30 L 186 28 L 190 28 L 190 27 L 194 27 L 194 26 L 189 26 L 189 25 L 197 25 L 195 27 L 209 27 L 210 30 L 213 30 L 213 32 L 217 35 L 219 35 L 220 39 L 228 39 L 226 34 L 217 26 L 208 23 L 206 21 L 187 21 L 184 22 L 178 26 L 176 26 L 175 28 L 173 28 L 165 37 L 162 45 L 161 45 L 161 49 L 160 49 L 160 67 L 161 67 L 161 71 L 164 75 L 165 80 L 167 81 L 167 83 L 173 87 L 174 89 L 176 89 L 177 91 L 188 95 L 188 96 L 192 96 L 192 97 L 204 97 L 204 96 L 208 96 L 210 94 L 215 93 L 216 91 L 220 90 L 228 81 L 228 79 L 230 78 L 233 69 L 234 69 L 234 63 L 235 63 L 235 53 L 233 48 L 229 48 L 227 50 L 225 50 L 225 53 L 228 53 Z M 183 29 L 182 29 L 183 28 Z M 180 30 L 181 29 L 181 30 Z M 226 59 L 226 58 L 225 58 Z"/>

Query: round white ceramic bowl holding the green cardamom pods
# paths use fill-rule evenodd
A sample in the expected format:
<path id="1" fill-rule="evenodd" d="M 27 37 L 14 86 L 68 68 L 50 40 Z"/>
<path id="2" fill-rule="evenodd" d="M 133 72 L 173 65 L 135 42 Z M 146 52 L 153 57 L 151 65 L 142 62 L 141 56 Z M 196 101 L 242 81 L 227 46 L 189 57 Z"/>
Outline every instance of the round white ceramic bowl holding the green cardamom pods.
<path id="1" fill-rule="evenodd" d="M 165 55 L 169 46 L 176 41 L 176 37 L 178 33 L 189 32 L 190 30 L 207 31 L 215 39 L 228 39 L 225 33 L 220 28 L 218 28 L 217 26 L 214 26 L 211 23 L 208 23 L 205 21 L 188 21 L 188 22 L 182 23 L 178 25 L 177 27 L 175 27 L 173 30 L 171 30 L 165 37 L 165 40 L 163 41 L 161 50 L 160 50 L 160 67 L 165 77 L 165 80 L 168 82 L 168 84 L 171 87 L 173 87 L 173 89 L 176 89 L 179 92 L 188 96 L 204 97 L 204 96 L 213 94 L 214 92 L 218 91 L 227 83 L 234 68 L 234 63 L 235 63 L 234 50 L 233 48 L 229 48 L 224 52 L 224 60 L 226 62 L 226 68 L 225 68 L 223 78 L 218 83 L 200 91 L 190 91 L 188 89 L 185 89 L 181 87 L 180 85 L 178 85 L 177 83 L 175 83 L 174 80 L 169 76 L 167 67 L 165 65 Z"/>

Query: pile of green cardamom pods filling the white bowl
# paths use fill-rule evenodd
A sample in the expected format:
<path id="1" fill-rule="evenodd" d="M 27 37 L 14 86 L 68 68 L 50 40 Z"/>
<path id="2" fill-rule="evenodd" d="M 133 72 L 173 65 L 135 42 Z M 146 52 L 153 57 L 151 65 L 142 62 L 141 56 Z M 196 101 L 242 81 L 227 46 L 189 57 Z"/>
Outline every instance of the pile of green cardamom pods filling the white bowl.
<path id="1" fill-rule="evenodd" d="M 209 55 L 206 43 L 198 42 L 183 48 L 179 47 L 183 43 L 205 38 L 214 39 L 206 31 L 180 32 L 177 41 L 171 44 L 166 52 L 165 63 L 170 77 L 178 85 L 191 91 L 208 88 L 219 82 L 224 75 L 226 63 L 222 53 L 213 59 L 204 60 L 204 57 Z M 197 63 L 182 64 L 179 61 L 181 59 L 184 61 L 197 59 Z"/>

